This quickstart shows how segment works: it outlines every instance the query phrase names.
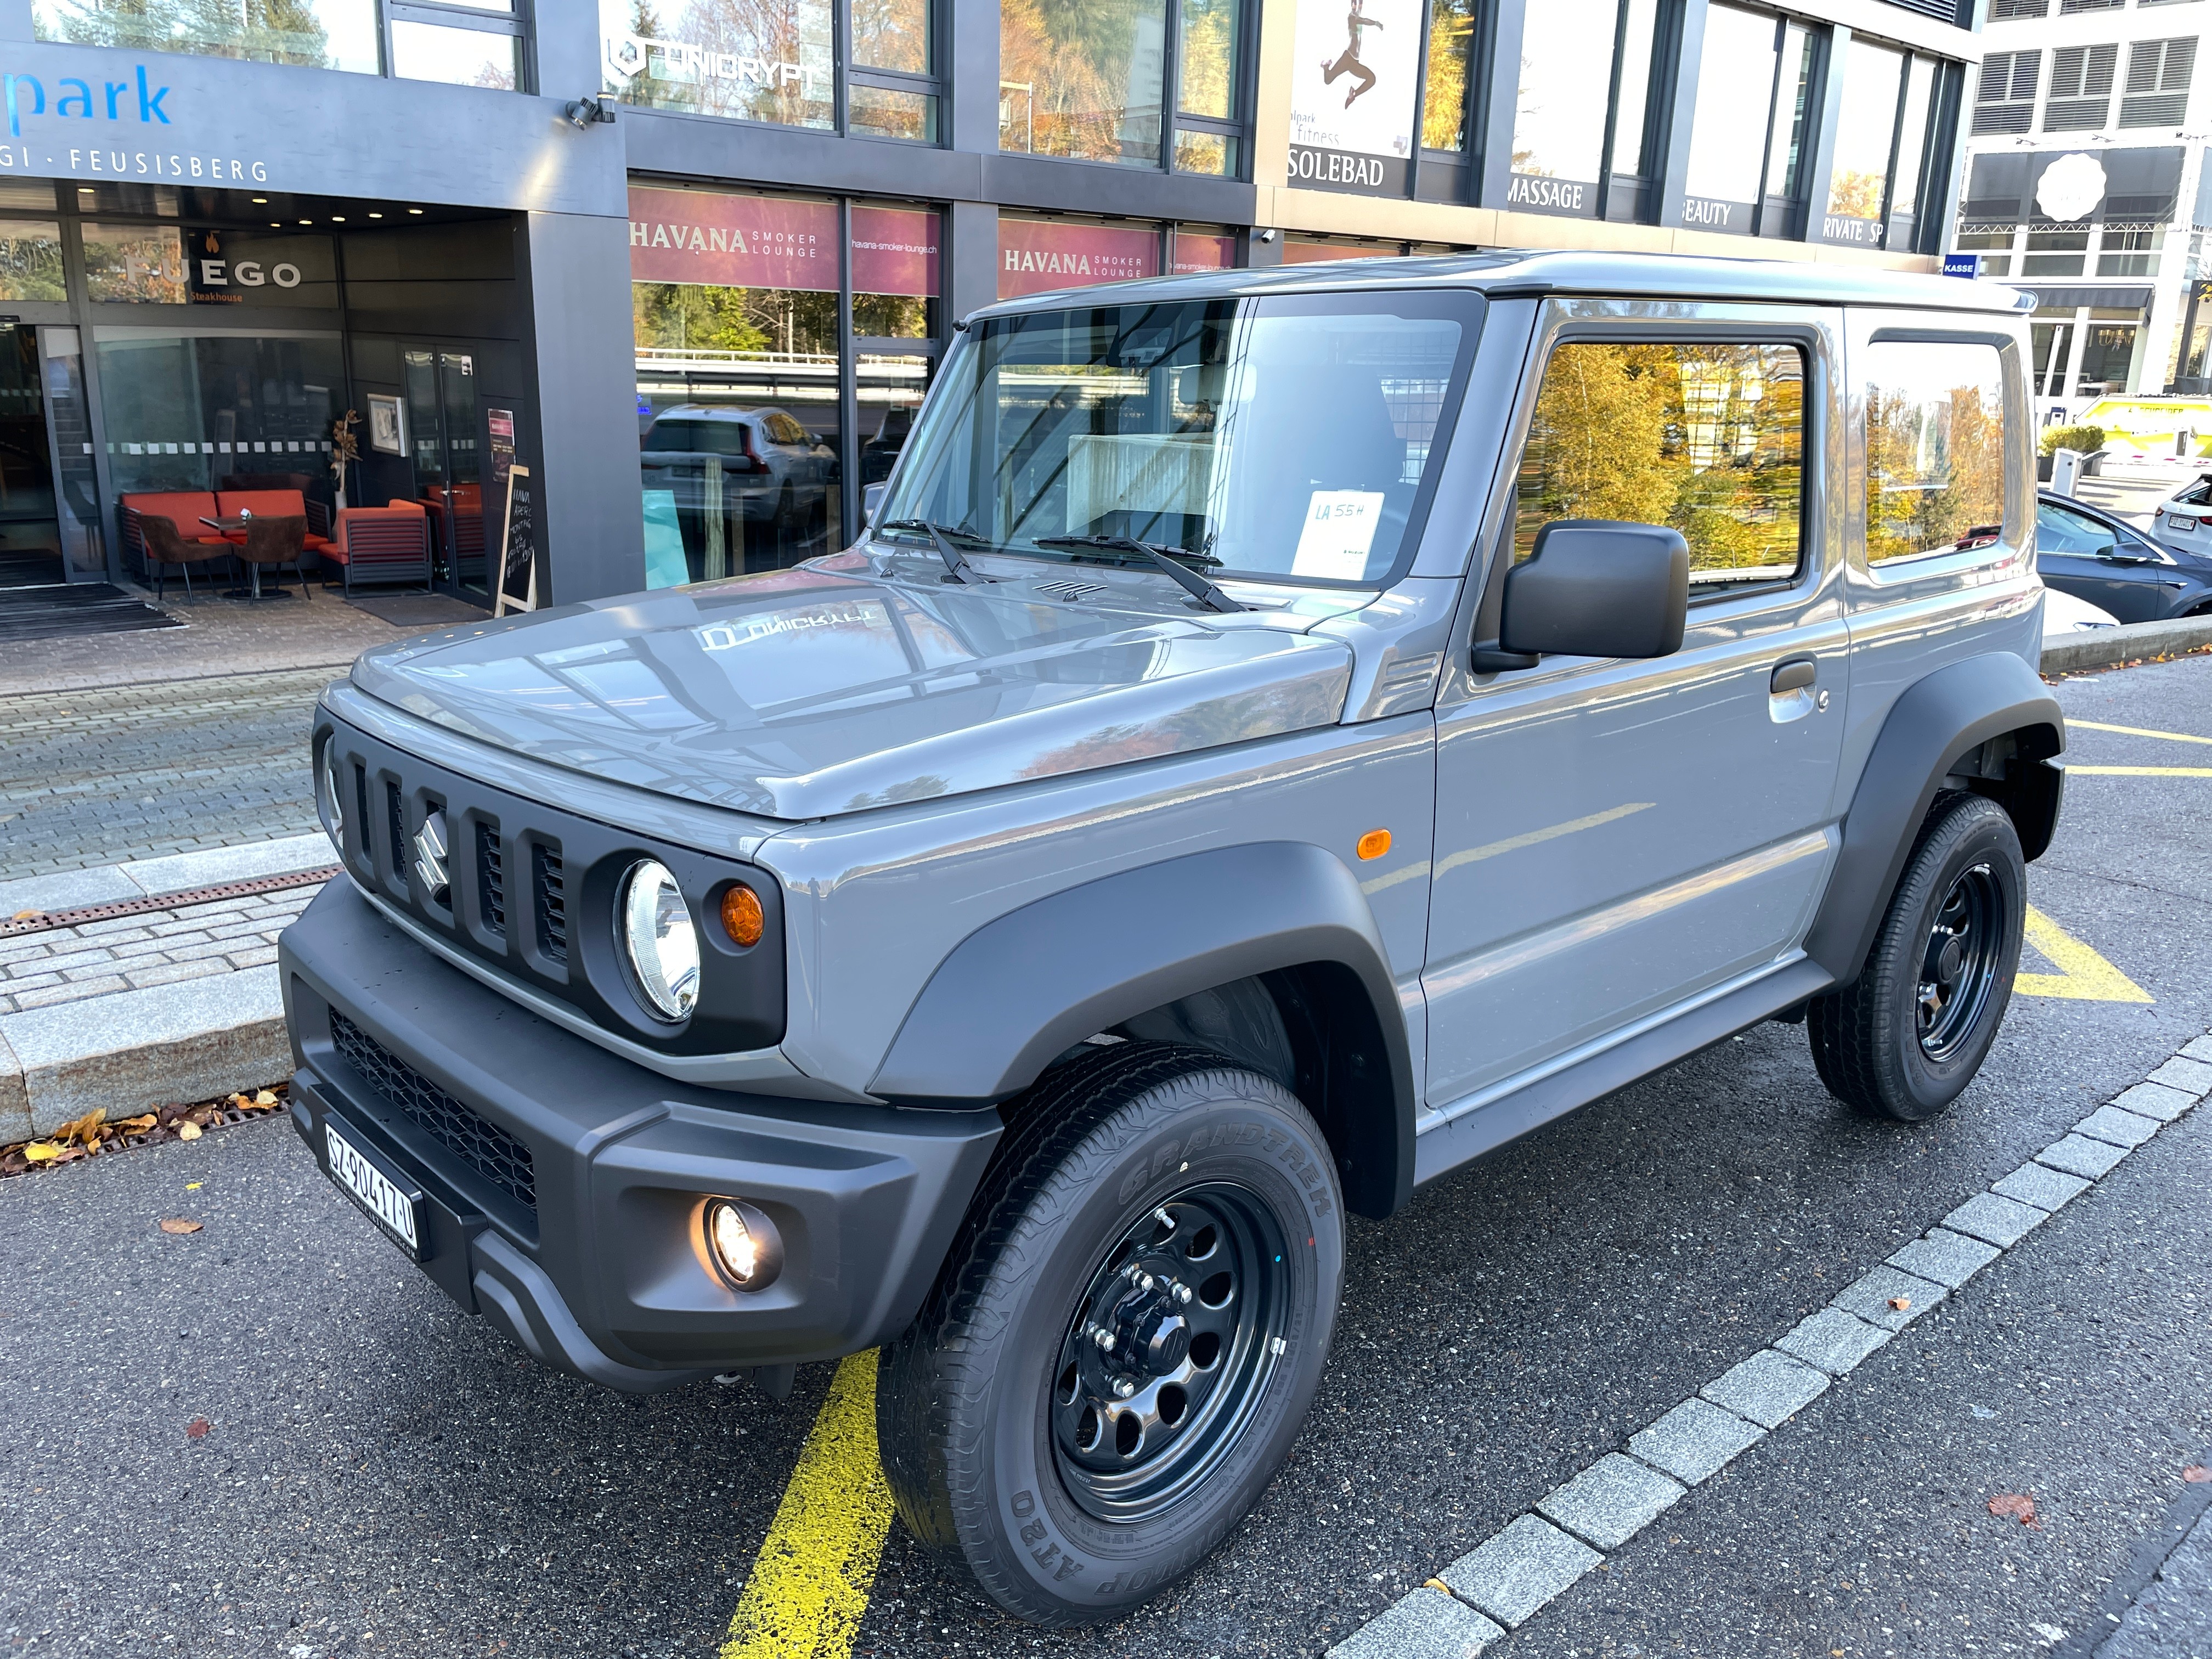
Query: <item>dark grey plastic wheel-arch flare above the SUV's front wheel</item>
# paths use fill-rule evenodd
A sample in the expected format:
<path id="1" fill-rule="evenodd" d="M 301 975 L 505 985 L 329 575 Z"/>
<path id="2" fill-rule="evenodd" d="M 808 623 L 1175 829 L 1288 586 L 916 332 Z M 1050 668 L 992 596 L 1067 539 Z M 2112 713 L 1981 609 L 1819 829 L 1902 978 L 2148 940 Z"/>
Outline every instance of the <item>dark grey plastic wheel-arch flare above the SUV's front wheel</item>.
<path id="1" fill-rule="evenodd" d="M 1389 1062 L 1387 1102 L 1374 1106 L 1391 1121 L 1376 1137 L 1380 1168 L 1367 1161 L 1383 1190 L 1356 1208 L 1396 1208 L 1413 1186 L 1405 1015 L 1358 878 L 1310 843 L 1194 852 L 984 922 L 922 987 L 869 1093 L 909 1106 L 1000 1102 L 1097 1031 L 1230 980 L 1305 964 L 1349 971 L 1369 1004 Z"/>

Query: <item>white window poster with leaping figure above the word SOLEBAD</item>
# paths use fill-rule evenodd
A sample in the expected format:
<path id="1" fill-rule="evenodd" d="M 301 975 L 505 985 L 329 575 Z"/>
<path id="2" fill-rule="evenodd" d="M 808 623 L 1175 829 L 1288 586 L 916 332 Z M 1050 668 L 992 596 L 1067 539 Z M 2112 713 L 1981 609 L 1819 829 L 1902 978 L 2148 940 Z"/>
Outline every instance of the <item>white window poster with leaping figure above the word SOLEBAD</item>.
<path id="1" fill-rule="evenodd" d="M 1420 102 L 1420 0 L 1298 0 L 1290 181 L 1402 197 Z"/>

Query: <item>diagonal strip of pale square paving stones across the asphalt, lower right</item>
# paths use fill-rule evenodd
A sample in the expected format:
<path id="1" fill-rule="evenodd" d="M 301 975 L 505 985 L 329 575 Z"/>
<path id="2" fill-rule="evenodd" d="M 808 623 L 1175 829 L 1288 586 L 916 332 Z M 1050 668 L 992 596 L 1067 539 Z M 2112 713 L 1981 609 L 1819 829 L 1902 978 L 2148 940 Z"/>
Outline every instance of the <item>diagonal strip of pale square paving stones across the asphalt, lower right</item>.
<path id="1" fill-rule="evenodd" d="M 1829 1378 L 1847 1376 L 1891 1332 L 1960 1290 L 2110 1175 L 2163 1124 L 2197 1106 L 2212 1086 L 2212 1033 L 2194 1037 L 2150 1075 L 2157 1082 L 2135 1084 L 2119 1097 L 2128 1102 L 2126 1110 L 2112 1102 L 2099 1106 L 2066 1139 L 1975 1192 L 1772 1347 L 1717 1376 L 1699 1389 L 1703 1398 L 1683 1400 L 1628 1436 L 1626 1453 L 1608 1451 L 1537 1498 L 1535 1513 L 1515 1517 L 1438 1579 L 1394 1601 L 1329 1648 L 1329 1659 L 1467 1657 L 1526 1624 L 1546 1601 L 1601 1566 L 1604 1551 L 1628 1544 L 1690 1486 L 1717 1475 L 1765 1433 L 1785 1429 L 1829 1387 Z M 1451 1595 L 1440 1595 L 1440 1588 Z M 1480 1615 L 1498 1624 L 1484 1628 Z M 2141 1652 L 2148 1657 L 2148 1648 Z"/>

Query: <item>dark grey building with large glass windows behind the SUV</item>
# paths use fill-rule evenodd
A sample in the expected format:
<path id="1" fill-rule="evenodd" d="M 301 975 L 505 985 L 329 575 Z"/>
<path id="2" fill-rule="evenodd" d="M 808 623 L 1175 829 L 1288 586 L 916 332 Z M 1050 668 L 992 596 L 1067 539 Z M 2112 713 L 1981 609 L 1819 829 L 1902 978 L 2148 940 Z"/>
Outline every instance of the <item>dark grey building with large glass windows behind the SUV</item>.
<path id="1" fill-rule="evenodd" d="M 312 513 L 422 507 L 434 580 L 482 599 L 520 489 L 555 602 L 841 546 L 956 319 L 998 299 L 1743 239 L 1933 270 L 1980 58 L 1944 0 L 27 18 L 0 378 L 35 409 L 33 460 L 9 451 L 35 529 L 7 546 L 131 577 L 126 498 L 290 476 Z"/>

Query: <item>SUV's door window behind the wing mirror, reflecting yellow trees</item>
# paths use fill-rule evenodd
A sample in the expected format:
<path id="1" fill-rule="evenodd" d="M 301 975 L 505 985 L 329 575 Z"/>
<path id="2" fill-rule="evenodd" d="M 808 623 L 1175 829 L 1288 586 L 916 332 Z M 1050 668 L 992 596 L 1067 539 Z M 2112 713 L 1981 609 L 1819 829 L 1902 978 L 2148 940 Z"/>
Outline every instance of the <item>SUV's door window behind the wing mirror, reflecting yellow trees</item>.
<path id="1" fill-rule="evenodd" d="M 1805 354 L 1719 341 L 1568 341 L 1544 365 L 1513 557 L 1555 518 L 1672 524 L 1690 597 L 1805 560 Z"/>

